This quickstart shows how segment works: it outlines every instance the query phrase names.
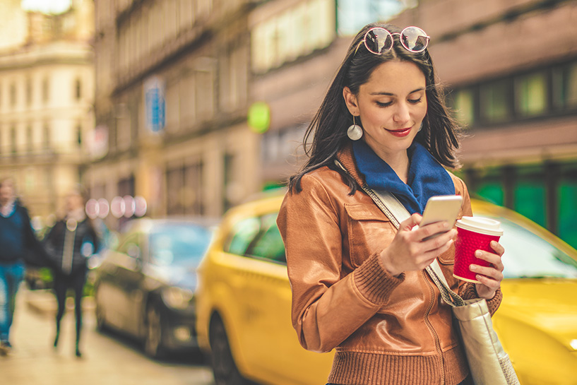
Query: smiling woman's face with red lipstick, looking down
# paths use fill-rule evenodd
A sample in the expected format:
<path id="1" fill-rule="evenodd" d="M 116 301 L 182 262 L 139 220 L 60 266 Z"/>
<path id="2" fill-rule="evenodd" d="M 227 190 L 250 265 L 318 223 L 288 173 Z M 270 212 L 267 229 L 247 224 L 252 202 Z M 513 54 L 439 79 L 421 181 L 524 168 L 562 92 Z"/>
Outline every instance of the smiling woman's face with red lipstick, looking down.
<path id="1" fill-rule="evenodd" d="M 376 67 L 358 95 L 343 90 L 350 113 L 360 117 L 364 141 L 381 158 L 406 153 L 411 145 L 427 114 L 425 86 L 416 64 L 394 60 Z"/>

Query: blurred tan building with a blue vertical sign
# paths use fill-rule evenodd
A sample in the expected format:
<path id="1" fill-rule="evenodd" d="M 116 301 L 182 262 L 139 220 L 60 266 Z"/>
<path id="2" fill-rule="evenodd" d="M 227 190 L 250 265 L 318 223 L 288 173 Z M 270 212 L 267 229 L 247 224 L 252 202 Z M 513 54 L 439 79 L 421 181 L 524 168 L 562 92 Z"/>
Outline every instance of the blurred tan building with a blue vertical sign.
<path id="1" fill-rule="evenodd" d="M 96 126 L 107 146 L 84 174 L 91 195 L 142 196 L 153 216 L 218 216 L 253 194 L 258 142 L 246 125 L 253 1 L 95 5 Z"/>

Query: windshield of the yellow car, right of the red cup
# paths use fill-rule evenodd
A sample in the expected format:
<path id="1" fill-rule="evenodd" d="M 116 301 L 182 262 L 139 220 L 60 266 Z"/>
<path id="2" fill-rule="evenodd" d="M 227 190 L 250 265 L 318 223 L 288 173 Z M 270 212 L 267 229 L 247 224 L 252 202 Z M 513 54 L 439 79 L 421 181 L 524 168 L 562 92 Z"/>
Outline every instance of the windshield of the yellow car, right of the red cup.
<path id="1" fill-rule="evenodd" d="M 487 216 L 487 215 L 484 215 Z M 542 237 L 504 218 L 505 278 L 577 278 L 577 261 Z"/>

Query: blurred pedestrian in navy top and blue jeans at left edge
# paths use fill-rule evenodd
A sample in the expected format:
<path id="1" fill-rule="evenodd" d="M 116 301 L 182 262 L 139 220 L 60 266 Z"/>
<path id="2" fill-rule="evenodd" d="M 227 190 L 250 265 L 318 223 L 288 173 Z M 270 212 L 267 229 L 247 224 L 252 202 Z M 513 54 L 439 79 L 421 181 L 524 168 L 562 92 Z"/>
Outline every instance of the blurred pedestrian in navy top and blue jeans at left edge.
<path id="1" fill-rule="evenodd" d="M 0 354 L 11 348 L 10 328 L 16 293 L 24 279 L 25 263 L 45 266 L 47 254 L 36 238 L 28 210 L 18 201 L 14 182 L 0 180 Z"/>

